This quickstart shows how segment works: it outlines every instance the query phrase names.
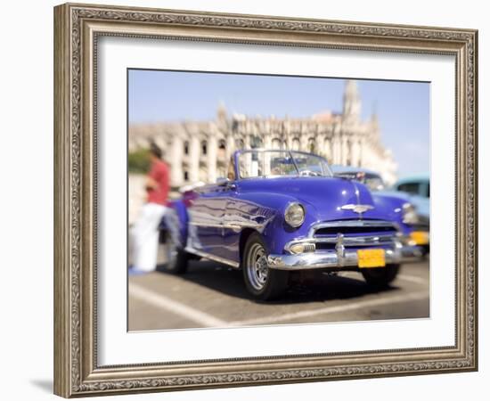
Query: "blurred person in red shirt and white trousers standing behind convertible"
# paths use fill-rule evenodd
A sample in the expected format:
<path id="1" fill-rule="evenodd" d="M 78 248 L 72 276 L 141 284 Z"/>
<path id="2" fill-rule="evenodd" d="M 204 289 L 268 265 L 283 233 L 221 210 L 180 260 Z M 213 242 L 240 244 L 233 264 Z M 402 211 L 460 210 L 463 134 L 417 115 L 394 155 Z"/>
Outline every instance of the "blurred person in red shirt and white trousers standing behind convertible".
<path id="1" fill-rule="evenodd" d="M 161 160 L 162 151 L 151 143 L 151 169 L 146 176 L 146 203 L 132 230 L 134 265 L 130 273 L 151 272 L 157 266 L 159 223 L 168 212 L 169 169 Z"/>

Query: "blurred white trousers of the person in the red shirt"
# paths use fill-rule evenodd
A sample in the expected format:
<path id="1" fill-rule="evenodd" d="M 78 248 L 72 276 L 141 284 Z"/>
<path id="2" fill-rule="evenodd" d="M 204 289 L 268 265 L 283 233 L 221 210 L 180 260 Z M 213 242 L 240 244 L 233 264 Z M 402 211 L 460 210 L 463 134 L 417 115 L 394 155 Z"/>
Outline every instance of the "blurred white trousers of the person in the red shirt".
<path id="1" fill-rule="evenodd" d="M 145 203 L 132 229 L 134 265 L 137 269 L 151 272 L 157 267 L 159 251 L 159 223 L 167 207 L 157 203 Z"/>

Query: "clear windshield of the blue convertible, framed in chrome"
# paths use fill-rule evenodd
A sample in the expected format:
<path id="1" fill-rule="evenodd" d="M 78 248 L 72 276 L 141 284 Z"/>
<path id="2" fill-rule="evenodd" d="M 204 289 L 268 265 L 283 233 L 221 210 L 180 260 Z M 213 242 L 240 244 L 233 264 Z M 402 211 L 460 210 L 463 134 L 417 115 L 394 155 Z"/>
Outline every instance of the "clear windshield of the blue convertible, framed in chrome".
<path id="1" fill-rule="evenodd" d="M 241 178 L 258 176 L 332 176 L 326 160 L 299 151 L 241 151 L 238 156 Z"/>

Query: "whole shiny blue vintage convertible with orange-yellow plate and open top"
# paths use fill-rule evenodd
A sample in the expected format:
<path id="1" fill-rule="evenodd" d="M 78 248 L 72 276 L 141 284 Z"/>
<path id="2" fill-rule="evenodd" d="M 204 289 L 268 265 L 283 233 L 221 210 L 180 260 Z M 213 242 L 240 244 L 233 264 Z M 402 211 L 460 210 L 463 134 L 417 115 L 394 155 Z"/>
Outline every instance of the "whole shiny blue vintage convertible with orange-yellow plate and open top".
<path id="1" fill-rule="evenodd" d="M 359 271 L 386 286 L 421 255 L 407 237 L 412 205 L 334 177 L 326 160 L 300 151 L 236 151 L 226 178 L 184 192 L 172 210 L 167 270 L 184 273 L 190 258 L 240 268 L 256 299 L 278 297 L 290 272 L 310 269 Z"/>

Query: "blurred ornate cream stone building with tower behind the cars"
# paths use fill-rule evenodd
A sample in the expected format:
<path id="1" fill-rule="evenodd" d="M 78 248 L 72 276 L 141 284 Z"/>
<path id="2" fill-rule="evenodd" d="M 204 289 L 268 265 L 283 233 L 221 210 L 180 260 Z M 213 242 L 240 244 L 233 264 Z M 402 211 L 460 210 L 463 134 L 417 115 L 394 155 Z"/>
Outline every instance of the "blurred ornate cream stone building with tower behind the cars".
<path id="1" fill-rule="evenodd" d="M 129 151 L 151 141 L 166 153 L 172 186 L 214 182 L 225 176 L 233 151 L 258 147 L 311 151 L 331 164 L 372 168 L 388 184 L 396 180 L 396 162 L 380 142 L 377 116 L 361 120 L 361 98 L 353 80 L 347 80 L 341 114 L 326 111 L 304 119 L 228 116 L 220 105 L 214 121 L 130 125 Z"/>

